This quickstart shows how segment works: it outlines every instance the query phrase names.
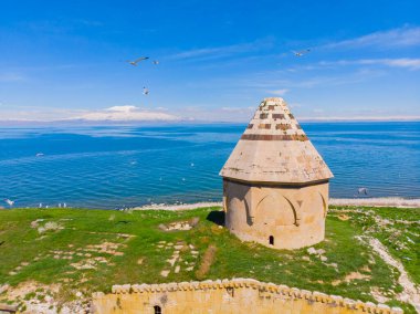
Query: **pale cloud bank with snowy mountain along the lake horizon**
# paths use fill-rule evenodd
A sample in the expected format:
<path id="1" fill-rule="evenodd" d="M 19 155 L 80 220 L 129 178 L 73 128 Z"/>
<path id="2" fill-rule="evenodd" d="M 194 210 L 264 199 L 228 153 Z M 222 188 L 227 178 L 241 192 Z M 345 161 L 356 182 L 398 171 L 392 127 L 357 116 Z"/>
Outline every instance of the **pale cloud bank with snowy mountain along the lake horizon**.
<path id="1" fill-rule="evenodd" d="M 288 104 L 294 113 L 301 108 L 302 104 Z M 216 109 L 208 109 L 206 106 L 189 106 L 182 108 L 180 114 L 172 114 L 166 108 L 143 108 L 134 105 L 112 106 L 104 109 L 59 109 L 59 111 L 19 111 L 8 115 L 0 115 L 1 125 L 31 124 L 31 123 L 248 123 L 254 112 L 255 106 L 241 107 L 229 106 Z M 206 116 L 203 119 L 202 117 Z M 309 114 L 296 116 L 301 122 L 387 122 L 387 121 L 420 121 L 420 115 L 384 115 L 381 112 L 368 111 L 365 115 L 332 115 L 323 108 L 314 107 Z"/>

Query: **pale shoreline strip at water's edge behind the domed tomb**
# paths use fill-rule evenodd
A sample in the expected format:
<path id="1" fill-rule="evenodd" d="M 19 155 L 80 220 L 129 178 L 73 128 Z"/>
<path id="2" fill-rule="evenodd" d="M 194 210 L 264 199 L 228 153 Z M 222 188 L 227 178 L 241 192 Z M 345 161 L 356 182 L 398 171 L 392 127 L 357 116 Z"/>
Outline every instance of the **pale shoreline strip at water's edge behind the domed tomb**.
<path id="1" fill-rule="evenodd" d="M 403 199 L 397 197 L 384 197 L 384 198 L 333 198 L 329 199 L 329 205 L 332 206 L 371 206 L 371 207 L 398 207 L 398 208 L 420 208 L 420 198 L 418 199 Z M 149 209 L 161 209 L 161 210 L 190 210 L 203 207 L 221 207 L 221 201 L 213 202 L 195 202 L 195 203 L 179 203 L 179 205 L 168 205 L 168 203 L 154 203 L 145 205 L 141 207 L 134 207 L 133 210 L 149 210 Z"/>

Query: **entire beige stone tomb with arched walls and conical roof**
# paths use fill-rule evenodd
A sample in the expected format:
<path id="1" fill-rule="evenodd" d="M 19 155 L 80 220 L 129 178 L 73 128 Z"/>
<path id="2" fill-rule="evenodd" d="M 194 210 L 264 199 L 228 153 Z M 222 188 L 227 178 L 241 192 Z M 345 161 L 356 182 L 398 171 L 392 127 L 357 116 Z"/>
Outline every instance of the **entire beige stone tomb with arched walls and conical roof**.
<path id="1" fill-rule="evenodd" d="M 243 241 L 298 249 L 324 240 L 333 174 L 282 98 L 264 98 L 224 164 L 225 226 Z"/>

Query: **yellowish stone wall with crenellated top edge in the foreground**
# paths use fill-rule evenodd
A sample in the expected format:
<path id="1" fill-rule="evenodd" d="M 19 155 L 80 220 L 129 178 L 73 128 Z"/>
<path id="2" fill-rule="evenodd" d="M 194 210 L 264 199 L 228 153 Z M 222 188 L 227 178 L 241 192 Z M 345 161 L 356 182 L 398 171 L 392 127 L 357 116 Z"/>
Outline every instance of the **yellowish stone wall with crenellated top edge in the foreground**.
<path id="1" fill-rule="evenodd" d="M 402 313 L 398 307 L 390 308 L 384 304 L 364 303 L 252 279 L 114 285 L 111 294 L 95 293 L 93 296 L 93 312 L 101 314 L 154 314 L 155 306 L 159 306 L 164 314 Z"/>

